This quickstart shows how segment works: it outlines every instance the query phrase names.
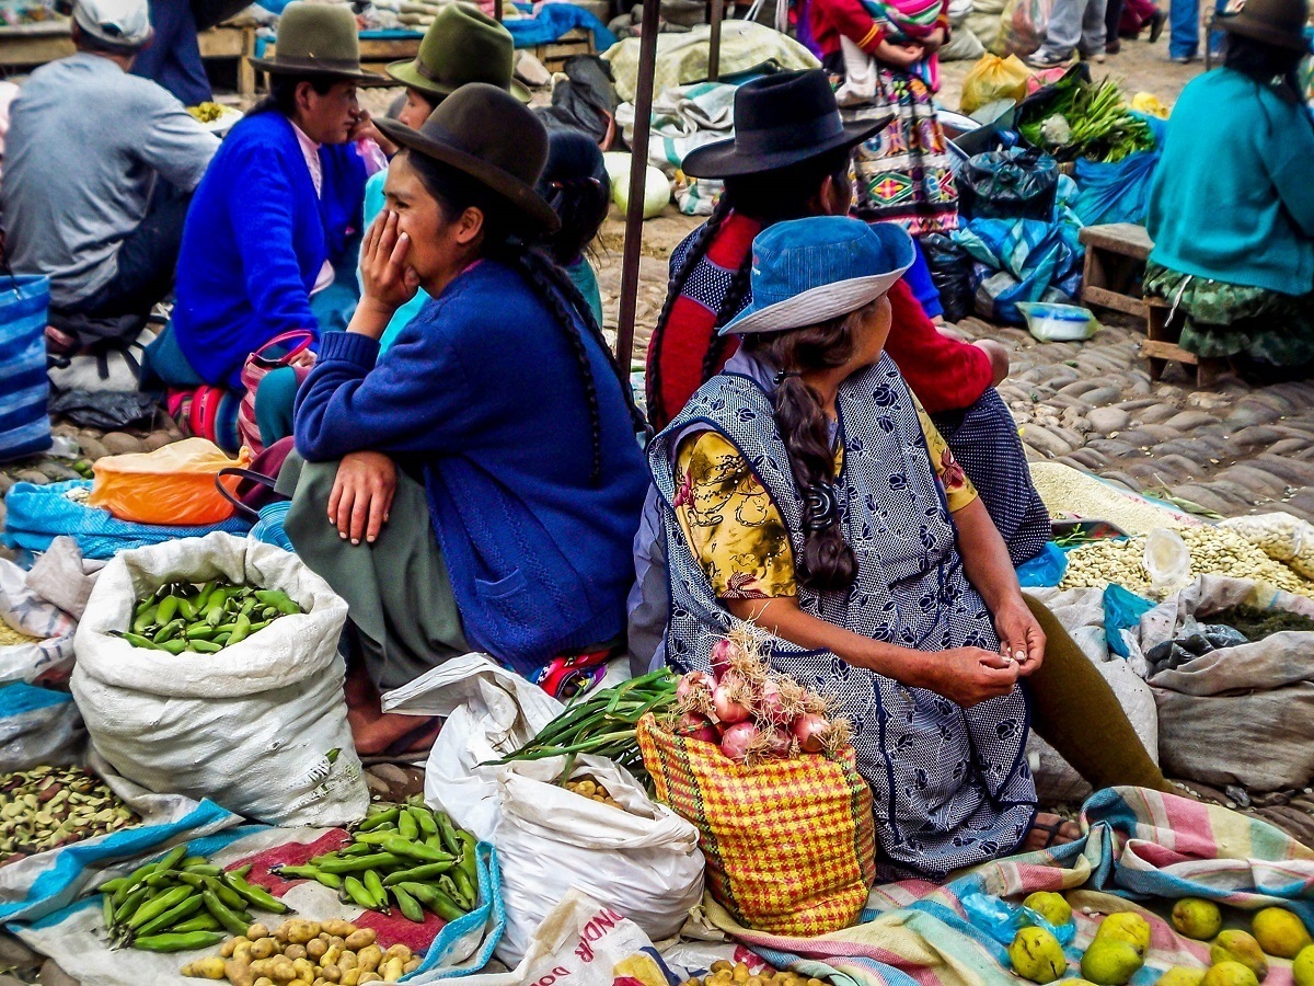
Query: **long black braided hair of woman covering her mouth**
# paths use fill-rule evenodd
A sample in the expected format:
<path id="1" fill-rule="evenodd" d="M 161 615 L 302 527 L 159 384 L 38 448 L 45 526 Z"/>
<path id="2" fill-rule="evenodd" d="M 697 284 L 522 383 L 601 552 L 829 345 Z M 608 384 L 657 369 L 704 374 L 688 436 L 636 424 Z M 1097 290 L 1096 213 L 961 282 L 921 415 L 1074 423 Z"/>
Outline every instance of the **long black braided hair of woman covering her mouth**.
<path id="1" fill-rule="evenodd" d="M 557 329 L 564 333 L 570 343 L 576 363 L 579 367 L 579 379 L 583 385 L 585 400 L 589 405 L 589 430 L 593 446 L 593 465 L 589 471 L 589 484 L 598 485 L 602 481 L 602 409 L 598 404 L 598 383 L 589 363 L 589 350 L 583 335 L 576 330 L 576 321 L 583 323 L 585 331 L 593 338 L 610 363 L 620 390 L 629 408 L 631 421 L 635 431 L 646 430 L 646 422 L 639 408 L 635 405 L 629 381 L 616 363 L 602 334 L 602 329 L 593 317 L 587 302 L 579 289 L 570 281 L 552 259 L 541 250 L 531 247 L 520 238 L 511 222 L 511 209 L 503 201 L 474 179 L 456 171 L 432 158 L 422 154 L 403 151 L 407 164 L 415 170 L 420 184 L 438 202 L 444 218 L 455 222 L 465 209 L 476 208 L 484 213 L 484 245 L 480 250 L 482 258 L 497 260 L 511 267 L 520 273 L 526 284 L 533 291 L 544 304 Z"/>

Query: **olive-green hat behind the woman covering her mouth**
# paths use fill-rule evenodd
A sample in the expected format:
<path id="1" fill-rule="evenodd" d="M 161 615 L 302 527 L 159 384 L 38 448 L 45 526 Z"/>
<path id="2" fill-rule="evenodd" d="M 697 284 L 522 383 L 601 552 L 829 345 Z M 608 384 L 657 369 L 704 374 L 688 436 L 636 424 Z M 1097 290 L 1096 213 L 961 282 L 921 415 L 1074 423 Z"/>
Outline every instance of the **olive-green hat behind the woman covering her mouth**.
<path id="1" fill-rule="evenodd" d="M 468 4 L 447 4 L 424 32 L 414 60 L 393 62 L 386 71 L 435 100 L 482 82 L 528 103 L 530 91 L 511 78 L 514 60 L 511 32 Z"/>

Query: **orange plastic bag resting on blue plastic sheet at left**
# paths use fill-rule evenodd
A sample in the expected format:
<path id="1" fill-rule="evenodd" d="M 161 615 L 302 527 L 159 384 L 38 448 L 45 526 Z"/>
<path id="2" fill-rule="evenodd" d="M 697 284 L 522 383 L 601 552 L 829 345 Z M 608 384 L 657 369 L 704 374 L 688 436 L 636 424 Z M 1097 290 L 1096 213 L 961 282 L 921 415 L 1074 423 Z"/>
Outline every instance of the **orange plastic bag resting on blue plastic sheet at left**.
<path id="1" fill-rule="evenodd" d="M 175 527 L 219 523 L 233 517 L 233 504 L 215 488 L 215 475 L 227 467 L 250 464 L 250 448 L 229 459 L 204 438 L 187 438 L 154 452 L 112 455 L 96 461 L 96 481 L 87 502 L 135 523 Z M 221 480 L 230 493 L 240 481 L 238 476 Z"/>

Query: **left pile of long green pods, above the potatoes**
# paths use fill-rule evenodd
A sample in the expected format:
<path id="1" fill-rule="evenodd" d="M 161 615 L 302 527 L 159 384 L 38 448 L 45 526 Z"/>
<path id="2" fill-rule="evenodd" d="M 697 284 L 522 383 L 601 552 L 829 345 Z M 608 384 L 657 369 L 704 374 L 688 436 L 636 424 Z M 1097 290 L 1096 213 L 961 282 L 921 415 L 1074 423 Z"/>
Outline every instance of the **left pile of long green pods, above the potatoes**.
<path id="1" fill-rule="evenodd" d="M 204 856 L 177 845 L 158 862 L 100 885 L 105 927 L 116 948 L 191 952 L 223 941 L 226 929 L 251 926 L 247 908 L 286 914 L 289 907 L 263 887 L 247 883 L 251 866 L 223 872 Z"/>

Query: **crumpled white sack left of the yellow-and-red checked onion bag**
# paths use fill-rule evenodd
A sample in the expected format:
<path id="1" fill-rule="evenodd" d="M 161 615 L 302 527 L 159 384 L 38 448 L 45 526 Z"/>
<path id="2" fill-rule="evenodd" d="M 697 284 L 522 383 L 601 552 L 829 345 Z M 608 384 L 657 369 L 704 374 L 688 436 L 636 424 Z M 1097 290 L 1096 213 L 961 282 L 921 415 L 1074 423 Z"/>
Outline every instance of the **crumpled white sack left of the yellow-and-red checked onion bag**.
<path id="1" fill-rule="evenodd" d="M 703 895 L 698 831 L 653 802 L 600 757 L 579 757 L 629 814 L 553 784 L 560 759 L 481 766 L 530 740 L 564 706 L 482 655 L 448 661 L 384 697 L 385 711 L 447 715 L 430 752 L 424 799 L 491 843 L 502 862 L 506 933 L 497 954 L 515 965 L 533 929 L 572 889 L 633 920 L 653 939 L 674 935 Z"/>

